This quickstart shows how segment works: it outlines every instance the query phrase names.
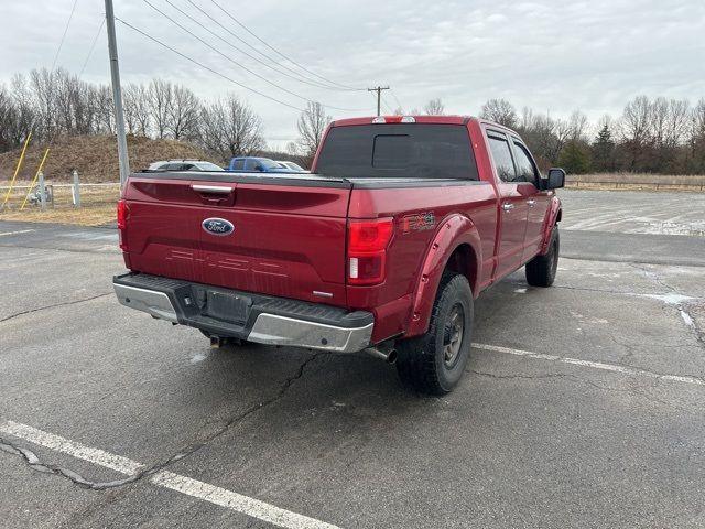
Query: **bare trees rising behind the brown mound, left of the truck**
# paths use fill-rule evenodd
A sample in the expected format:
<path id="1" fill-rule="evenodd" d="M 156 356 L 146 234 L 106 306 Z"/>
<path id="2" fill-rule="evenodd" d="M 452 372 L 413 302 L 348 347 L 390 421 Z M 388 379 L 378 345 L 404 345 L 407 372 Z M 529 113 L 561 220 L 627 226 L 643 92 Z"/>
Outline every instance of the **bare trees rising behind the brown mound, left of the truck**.
<path id="1" fill-rule="evenodd" d="M 127 133 L 188 141 L 221 162 L 267 147 L 262 119 L 232 94 L 203 101 L 183 85 L 152 79 L 123 86 L 122 105 Z M 110 87 L 63 68 L 14 75 L 0 86 L 0 152 L 21 147 L 30 131 L 39 142 L 115 133 Z"/>

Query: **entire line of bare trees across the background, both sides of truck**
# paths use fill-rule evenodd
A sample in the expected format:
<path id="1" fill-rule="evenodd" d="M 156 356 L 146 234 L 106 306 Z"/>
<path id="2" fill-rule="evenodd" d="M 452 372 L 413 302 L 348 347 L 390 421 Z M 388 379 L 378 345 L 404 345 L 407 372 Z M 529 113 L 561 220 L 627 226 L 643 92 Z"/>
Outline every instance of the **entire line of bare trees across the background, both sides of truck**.
<path id="1" fill-rule="evenodd" d="M 267 149 L 261 117 L 229 94 L 212 101 L 189 88 L 163 79 L 123 86 L 127 132 L 195 143 L 218 162 Z M 394 114 L 404 114 L 401 108 Z M 442 115 L 443 101 L 431 99 L 420 112 Z M 567 119 L 521 111 L 505 99 L 490 99 L 480 117 L 517 130 L 545 169 L 561 165 L 572 173 L 654 172 L 705 173 L 705 98 L 687 100 L 636 97 L 618 117 L 590 123 L 579 110 Z M 299 139 L 288 154 L 308 163 L 330 122 L 325 107 L 308 102 L 296 123 Z M 21 147 L 28 132 L 48 142 L 57 134 L 115 133 L 112 93 L 58 68 L 17 74 L 0 85 L 0 152 Z"/>

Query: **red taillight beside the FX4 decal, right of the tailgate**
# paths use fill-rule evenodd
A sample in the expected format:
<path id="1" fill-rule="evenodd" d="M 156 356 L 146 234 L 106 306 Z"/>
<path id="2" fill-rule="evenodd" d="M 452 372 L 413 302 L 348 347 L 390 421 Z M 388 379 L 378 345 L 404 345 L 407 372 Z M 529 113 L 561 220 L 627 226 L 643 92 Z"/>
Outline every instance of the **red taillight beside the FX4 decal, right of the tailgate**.
<path id="1" fill-rule="evenodd" d="M 384 281 L 387 245 L 393 231 L 391 218 L 348 220 L 348 283 Z"/>

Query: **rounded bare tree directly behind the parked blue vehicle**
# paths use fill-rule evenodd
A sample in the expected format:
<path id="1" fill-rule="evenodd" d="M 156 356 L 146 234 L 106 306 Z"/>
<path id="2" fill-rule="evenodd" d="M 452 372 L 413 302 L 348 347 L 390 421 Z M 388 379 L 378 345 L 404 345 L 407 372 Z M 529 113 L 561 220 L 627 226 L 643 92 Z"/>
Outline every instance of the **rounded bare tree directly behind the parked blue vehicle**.
<path id="1" fill-rule="evenodd" d="M 262 119 L 234 94 L 200 110 L 200 142 L 227 162 L 264 149 Z"/>

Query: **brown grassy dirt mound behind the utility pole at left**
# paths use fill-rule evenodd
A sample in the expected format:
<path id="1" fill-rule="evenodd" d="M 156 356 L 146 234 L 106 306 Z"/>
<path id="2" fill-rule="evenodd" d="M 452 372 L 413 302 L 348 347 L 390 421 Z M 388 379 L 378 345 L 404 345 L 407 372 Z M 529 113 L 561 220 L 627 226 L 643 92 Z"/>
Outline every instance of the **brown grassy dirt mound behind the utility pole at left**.
<path id="1" fill-rule="evenodd" d="M 46 145 L 30 143 L 18 180 L 32 180 Z M 0 154 L 0 185 L 12 179 L 21 149 Z M 128 136 L 132 171 L 145 169 L 156 160 L 197 158 L 208 160 L 202 149 L 182 141 L 152 140 Z M 76 169 L 82 182 L 118 182 L 118 144 L 115 136 L 74 136 L 58 138 L 52 145 L 44 176 L 52 182 L 69 181 Z"/>

